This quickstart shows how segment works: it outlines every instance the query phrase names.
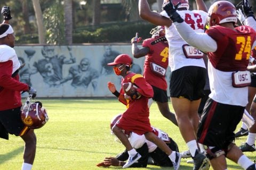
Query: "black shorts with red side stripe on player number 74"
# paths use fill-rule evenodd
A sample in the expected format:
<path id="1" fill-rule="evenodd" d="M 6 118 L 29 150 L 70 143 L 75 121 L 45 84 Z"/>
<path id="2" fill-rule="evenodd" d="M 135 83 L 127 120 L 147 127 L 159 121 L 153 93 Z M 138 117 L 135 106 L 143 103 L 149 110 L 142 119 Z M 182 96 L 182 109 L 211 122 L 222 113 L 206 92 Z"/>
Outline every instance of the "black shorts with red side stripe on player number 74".
<path id="1" fill-rule="evenodd" d="M 243 117 L 244 109 L 242 106 L 221 104 L 209 98 L 197 131 L 198 143 L 227 149 L 235 140 L 234 131 Z"/>

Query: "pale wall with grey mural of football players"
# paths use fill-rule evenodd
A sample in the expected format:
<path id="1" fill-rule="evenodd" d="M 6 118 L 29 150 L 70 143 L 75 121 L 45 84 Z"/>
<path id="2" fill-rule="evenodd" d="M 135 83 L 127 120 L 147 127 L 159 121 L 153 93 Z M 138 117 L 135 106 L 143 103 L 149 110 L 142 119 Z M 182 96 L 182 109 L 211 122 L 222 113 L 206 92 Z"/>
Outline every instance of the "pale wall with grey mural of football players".
<path id="1" fill-rule="evenodd" d="M 132 57 L 130 44 L 15 46 L 14 49 L 20 62 L 26 63 L 20 71 L 20 80 L 34 87 L 38 97 L 113 97 L 107 82 L 114 82 L 119 91 L 121 77 L 106 64 L 119 54 Z M 144 59 L 133 58 L 133 72 L 143 75 Z M 169 83 L 170 69 L 166 78 Z"/>

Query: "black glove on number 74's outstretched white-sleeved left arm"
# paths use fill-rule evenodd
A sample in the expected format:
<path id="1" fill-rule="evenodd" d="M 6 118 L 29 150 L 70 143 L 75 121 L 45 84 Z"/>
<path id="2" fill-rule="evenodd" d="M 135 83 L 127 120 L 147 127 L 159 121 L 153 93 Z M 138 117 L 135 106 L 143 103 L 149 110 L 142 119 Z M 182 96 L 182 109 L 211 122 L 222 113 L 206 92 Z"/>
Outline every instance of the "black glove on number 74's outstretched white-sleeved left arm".
<path id="1" fill-rule="evenodd" d="M 163 5 L 163 10 L 166 11 L 167 15 L 170 16 L 170 19 L 172 22 L 178 22 L 181 23 L 184 20 L 181 18 L 180 14 L 177 12 L 177 7 L 180 5 L 178 3 L 176 6 L 173 6 L 172 2 L 169 1 L 169 3 Z"/>

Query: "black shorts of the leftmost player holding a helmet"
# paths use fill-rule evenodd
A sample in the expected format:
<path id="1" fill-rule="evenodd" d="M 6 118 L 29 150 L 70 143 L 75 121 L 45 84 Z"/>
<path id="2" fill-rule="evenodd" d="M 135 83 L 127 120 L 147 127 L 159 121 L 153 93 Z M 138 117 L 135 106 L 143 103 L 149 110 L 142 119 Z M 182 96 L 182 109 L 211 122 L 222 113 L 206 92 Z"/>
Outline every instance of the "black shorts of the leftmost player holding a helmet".
<path id="1" fill-rule="evenodd" d="M 29 130 L 23 124 L 20 113 L 20 107 L 0 111 L 0 138 L 8 139 L 8 133 L 20 136 Z"/>

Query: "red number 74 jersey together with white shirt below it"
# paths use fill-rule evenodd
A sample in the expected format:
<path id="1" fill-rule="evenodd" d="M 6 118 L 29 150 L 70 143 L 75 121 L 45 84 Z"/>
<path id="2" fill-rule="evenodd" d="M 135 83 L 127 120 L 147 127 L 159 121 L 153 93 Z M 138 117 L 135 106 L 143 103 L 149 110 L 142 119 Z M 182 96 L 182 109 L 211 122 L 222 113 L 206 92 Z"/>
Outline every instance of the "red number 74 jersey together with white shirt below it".
<path id="1" fill-rule="evenodd" d="M 217 43 L 217 50 L 208 53 L 209 97 L 218 103 L 245 107 L 248 88 L 234 87 L 233 73 L 246 71 L 256 40 L 255 31 L 248 26 L 233 30 L 217 25 L 206 30 L 206 33 Z"/>

